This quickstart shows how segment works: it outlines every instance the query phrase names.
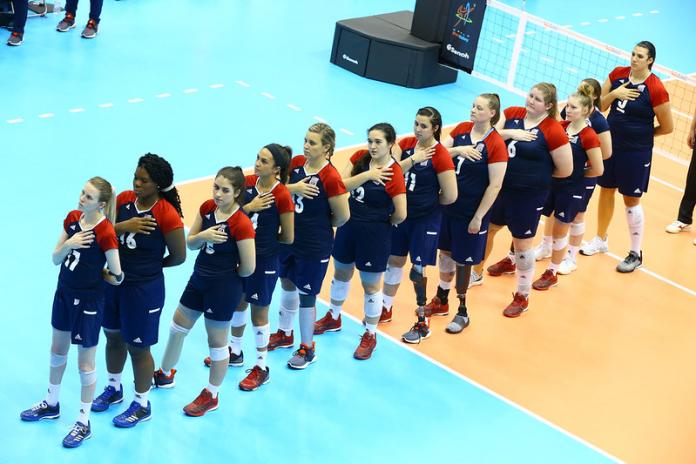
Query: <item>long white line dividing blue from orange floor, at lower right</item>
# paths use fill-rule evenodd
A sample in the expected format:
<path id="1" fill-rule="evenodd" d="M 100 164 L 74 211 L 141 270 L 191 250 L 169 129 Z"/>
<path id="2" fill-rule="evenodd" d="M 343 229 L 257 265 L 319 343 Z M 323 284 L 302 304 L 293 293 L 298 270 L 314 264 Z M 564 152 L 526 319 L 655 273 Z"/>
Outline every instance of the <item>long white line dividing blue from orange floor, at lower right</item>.
<path id="1" fill-rule="evenodd" d="M 322 298 L 317 298 L 317 301 L 320 302 L 321 304 L 325 305 L 327 308 L 329 307 L 329 303 L 328 303 L 327 301 L 323 300 Z M 358 319 L 357 317 L 355 317 L 355 316 L 353 316 L 352 314 L 348 313 L 347 311 L 343 311 L 342 314 L 343 314 L 344 316 L 346 316 L 347 318 L 351 319 L 351 320 L 352 320 L 353 322 L 355 322 L 356 324 L 362 325 L 362 321 L 361 321 L 360 319 Z M 572 432 L 569 432 L 568 430 L 564 429 L 563 427 L 561 427 L 561 426 L 559 426 L 559 425 L 556 425 L 556 424 L 554 424 L 553 422 L 550 422 L 550 421 L 547 420 L 547 419 L 544 419 L 543 417 L 541 417 L 541 416 L 539 416 L 538 414 L 536 414 L 536 413 L 530 411 L 529 409 L 525 408 L 524 406 L 515 403 L 515 402 L 512 401 L 511 399 L 506 398 L 506 397 L 500 395 L 499 393 L 494 392 L 493 390 L 491 390 L 491 389 L 488 388 L 488 387 L 485 387 L 484 385 L 481 385 L 480 383 L 476 382 L 475 380 L 473 380 L 473 379 L 471 379 L 471 378 L 465 376 L 465 375 L 462 374 L 461 372 L 457 372 L 456 370 L 452 369 L 451 367 L 449 367 L 449 366 L 447 366 L 447 365 L 445 365 L 445 364 L 442 364 L 440 361 L 431 358 L 431 357 L 428 356 L 427 354 L 421 353 L 420 351 L 416 350 L 416 349 L 413 348 L 412 346 L 407 345 L 406 343 L 402 343 L 402 342 L 399 341 L 399 340 L 396 340 L 396 339 L 393 338 L 391 335 L 389 335 L 389 334 L 387 334 L 387 333 L 385 333 L 385 332 L 382 332 L 382 331 L 379 330 L 379 329 L 377 330 L 377 333 L 378 333 L 379 335 L 381 335 L 383 339 L 389 340 L 390 342 L 394 343 L 395 345 L 397 345 L 397 346 L 399 346 L 399 347 L 401 347 L 401 348 L 403 348 L 403 349 L 405 349 L 405 350 L 407 350 L 407 351 L 410 351 L 411 353 L 415 354 L 416 356 L 419 356 L 419 357 L 425 359 L 426 361 L 428 361 L 428 362 L 432 363 L 433 365 L 439 367 L 440 369 L 444 370 L 445 372 L 447 372 L 447 373 L 449 373 L 449 374 L 451 374 L 451 375 L 453 375 L 453 376 L 459 378 L 460 380 L 463 380 L 464 382 L 466 382 L 466 383 L 468 383 L 468 384 L 470 384 L 470 385 L 472 385 L 472 386 L 478 388 L 479 390 L 485 392 L 486 394 L 491 395 L 492 397 L 494 397 L 494 398 L 498 399 L 499 401 L 501 401 L 501 402 L 507 404 L 508 406 L 511 406 L 512 408 L 517 409 L 518 411 L 520 411 L 520 412 L 522 412 L 522 413 L 524 413 L 524 414 L 527 414 L 527 415 L 530 416 L 531 418 L 533 418 L 533 419 L 535 419 L 535 420 L 537 420 L 537 421 L 543 423 L 544 425 L 546 425 L 546 426 L 548 426 L 548 427 L 550 427 L 550 428 L 556 430 L 557 432 L 560 432 L 561 434 L 563 434 L 563 435 L 565 435 L 565 436 L 567 436 L 567 437 L 569 437 L 569 438 L 572 438 L 573 440 L 575 440 L 575 441 L 577 441 L 578 443 L 582 444 L 583 446 L 586 446 L 587 448 L 590 448 L 591 450 L 593 450 L 593 451 L 595 451 L 595 452 L 601 454 L 602 456 L 606 457 L 607 459 L 611 459 L 611 460 L 614 461 L 614 462 L 619 462 L 619 463 L 622 462 L 622 461 L 621 461 L 619 458 L 617 458 L 616 456 L 613 456 L 613 455 L 609 454 L 608 452 L 604 451 L 603 449 L 598 448 L 597 446 L 593 445 L 592 443 L 588 442 L 587 440 L 584 440 L 584 439 L 578 437 L 577 435 L 573 434 Z"/>

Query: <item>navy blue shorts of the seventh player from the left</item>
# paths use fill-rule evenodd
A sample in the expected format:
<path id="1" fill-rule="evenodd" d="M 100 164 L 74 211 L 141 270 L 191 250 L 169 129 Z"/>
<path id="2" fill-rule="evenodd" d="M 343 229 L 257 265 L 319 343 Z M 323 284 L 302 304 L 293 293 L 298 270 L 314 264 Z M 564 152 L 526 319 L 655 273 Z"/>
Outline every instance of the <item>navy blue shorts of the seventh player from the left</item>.
<path id="1" fill-rule="evenodd" d="M 437 259 L 442 212 L 438 209 L 428 216 L 409 219 L 392 228 L 391 254 L 411 255 L 413 264 L 432 266 Z"/>

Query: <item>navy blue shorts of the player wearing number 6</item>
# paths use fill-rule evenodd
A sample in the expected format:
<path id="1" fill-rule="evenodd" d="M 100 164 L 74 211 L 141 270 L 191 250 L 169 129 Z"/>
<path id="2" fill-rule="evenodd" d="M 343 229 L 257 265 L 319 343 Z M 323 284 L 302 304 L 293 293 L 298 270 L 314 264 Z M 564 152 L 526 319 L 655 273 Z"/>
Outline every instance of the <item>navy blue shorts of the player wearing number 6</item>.
<path id="1" fill-rule="evenodd" d="M 548 196 L 548 190 L 501 190 L 491 208 L 491 224 L 507 226 L 515 238 L 532 238 Z"/>

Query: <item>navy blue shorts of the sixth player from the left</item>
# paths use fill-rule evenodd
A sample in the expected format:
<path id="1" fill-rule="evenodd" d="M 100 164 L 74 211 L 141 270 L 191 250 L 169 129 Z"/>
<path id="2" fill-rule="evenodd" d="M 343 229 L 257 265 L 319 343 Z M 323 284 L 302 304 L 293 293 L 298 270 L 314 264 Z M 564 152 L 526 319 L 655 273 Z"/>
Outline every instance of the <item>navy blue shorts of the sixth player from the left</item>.
<path id="1" fill-rule="evenodd" d="M 392 226 L 384 222 L 350 220 L 336 231 L 331 256 L 344 264 L 355 263 L 363 272 L 384 272 L 391 250 Z"/>

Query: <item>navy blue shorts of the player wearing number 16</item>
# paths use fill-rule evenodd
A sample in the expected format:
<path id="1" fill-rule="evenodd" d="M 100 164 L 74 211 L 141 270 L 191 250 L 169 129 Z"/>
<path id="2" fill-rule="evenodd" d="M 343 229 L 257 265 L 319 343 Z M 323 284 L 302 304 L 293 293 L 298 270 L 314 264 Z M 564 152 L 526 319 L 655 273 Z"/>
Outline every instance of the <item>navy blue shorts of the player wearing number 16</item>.
<path id="1" fill-rule="evenodd" d="M 107 284 L 102 327 L 120 330 L 123 340 L 133 346 L 157 344 L 159 318 L 164 309 L 164 276 L 148 282 Z"/>

